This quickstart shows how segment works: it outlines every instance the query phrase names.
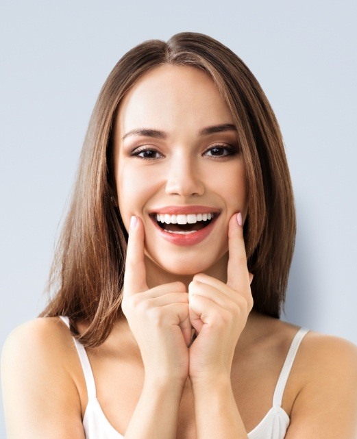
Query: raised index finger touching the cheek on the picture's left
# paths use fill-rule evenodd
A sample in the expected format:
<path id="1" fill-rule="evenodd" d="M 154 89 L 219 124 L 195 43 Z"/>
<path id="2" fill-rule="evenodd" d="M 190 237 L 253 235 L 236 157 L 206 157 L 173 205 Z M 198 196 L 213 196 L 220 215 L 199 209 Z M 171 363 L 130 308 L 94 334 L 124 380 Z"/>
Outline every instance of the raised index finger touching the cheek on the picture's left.
<path id="1" fill-rule="evenodd" d="M 147 290 L 144 241 L 145 231 L 143 222 L 138 216 L 132 216 L 125 259 L 124 294 Z"/>

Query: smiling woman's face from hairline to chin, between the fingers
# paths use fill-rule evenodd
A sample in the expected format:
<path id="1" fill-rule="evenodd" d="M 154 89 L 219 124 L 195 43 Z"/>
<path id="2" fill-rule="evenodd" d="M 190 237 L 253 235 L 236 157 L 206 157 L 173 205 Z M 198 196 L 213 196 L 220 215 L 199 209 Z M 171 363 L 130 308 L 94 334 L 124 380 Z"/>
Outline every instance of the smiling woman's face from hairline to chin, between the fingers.
<path id="1" fill-rule="evenodd" d="M 154 266 L 191 275 L 222 265 L 246 185 L 232 115 L 206 73 L 165 64 L 140 78 L 116 118 L 114 172 L 125 227 L 142 219 Z"/>

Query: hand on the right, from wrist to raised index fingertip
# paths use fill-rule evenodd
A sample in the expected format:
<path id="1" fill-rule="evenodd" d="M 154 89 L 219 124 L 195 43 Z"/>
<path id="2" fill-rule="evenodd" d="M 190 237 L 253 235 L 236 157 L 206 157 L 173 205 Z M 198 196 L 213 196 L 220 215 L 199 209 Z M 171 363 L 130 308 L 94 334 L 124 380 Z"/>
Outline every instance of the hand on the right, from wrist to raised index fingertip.
<path id="1" fill-rule="evenodd" d="M 237 215 L 228 225 L 229 260 L 227 284 L 199 273 L 188 286 L 190 322 L 197 338 L 190 347 L 190 380 L 230 377 L 234 349 L 251 308 L 250 282 Z"/>

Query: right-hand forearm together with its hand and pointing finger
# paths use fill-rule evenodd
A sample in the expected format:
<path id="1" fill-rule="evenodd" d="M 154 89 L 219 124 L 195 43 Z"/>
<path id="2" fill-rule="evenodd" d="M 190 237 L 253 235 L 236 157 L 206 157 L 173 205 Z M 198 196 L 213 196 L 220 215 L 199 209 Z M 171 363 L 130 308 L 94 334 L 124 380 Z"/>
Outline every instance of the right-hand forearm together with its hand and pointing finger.
<path id="1" fill-rule="evenodd" d="M 199 273 L 188 287 L 190 321 L 198 333 L 190 346 L 190 381 L 198 439 L 247 439 L 231 385 L 236 343 L 253 306 L 241 216 L 229 224 L 227 284 Z"/>

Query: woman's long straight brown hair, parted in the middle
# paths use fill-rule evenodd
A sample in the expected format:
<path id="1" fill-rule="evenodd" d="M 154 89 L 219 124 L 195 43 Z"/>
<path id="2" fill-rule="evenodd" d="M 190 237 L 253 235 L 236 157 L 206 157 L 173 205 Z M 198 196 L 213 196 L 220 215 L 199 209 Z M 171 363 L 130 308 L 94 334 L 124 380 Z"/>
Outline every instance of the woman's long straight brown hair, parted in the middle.
<path id="1" fill-rule="evenodd" d="M 149 40 L 127 52 L 103 85 L 90 123 L 73 199 L 49 277 L 55 294 L 40 316 L 86 321 L 77 338 L 95 347 L 121 313 L 127 233 L 113 199 L 112 125 L 125 92 L 162 64 L 193 66 L 212 77 L 232 112 L 245 164 L 245 244 L 254 308 L 278 318 L 295 242 L 291 179 L 278 122 L 258 81 L 230 49 L 203 34 Z"/>

